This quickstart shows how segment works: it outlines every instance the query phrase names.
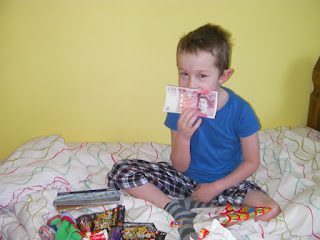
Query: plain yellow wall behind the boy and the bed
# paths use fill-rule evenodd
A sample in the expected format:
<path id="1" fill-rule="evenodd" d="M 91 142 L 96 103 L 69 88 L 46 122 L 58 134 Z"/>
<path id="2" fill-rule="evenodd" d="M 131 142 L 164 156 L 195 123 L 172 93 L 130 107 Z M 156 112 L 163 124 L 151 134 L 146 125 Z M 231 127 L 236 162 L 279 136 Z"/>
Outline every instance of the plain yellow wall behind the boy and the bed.
<path id="1" fill-rule="evenodd" d="M 263 128 L 304 125 L 319 0 L 0 1 L 0 158 L 34 137 L 169 143 L 175 47 L 207 22 L 233 33 L 226 86 Z"/>

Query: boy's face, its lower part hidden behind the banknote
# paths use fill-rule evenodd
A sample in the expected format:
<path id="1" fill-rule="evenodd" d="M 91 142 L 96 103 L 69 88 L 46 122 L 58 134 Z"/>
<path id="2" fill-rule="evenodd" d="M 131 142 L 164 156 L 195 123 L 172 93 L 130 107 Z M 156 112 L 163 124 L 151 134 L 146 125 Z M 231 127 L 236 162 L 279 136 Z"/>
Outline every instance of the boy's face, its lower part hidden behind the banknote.
<path id="1" fill-rule="evenodd" d="M 178 53 L 179 86 L 218 91 L 224 81 L 221 81 L 221 74 L 215 63 L 216 57 L 209 52 Z"/>

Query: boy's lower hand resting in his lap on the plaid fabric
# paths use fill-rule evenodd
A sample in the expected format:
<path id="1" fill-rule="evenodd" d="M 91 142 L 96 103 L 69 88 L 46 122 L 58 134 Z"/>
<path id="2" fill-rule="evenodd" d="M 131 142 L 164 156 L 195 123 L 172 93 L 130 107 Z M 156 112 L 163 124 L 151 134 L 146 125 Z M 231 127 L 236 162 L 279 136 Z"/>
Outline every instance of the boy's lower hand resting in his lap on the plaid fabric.
<path id="1" fill-rule="evenodd" d="M 201 183 L 191 194 L 192 200 L 208 203 L 218 196 L 223 190 L 213 183 Z"/>

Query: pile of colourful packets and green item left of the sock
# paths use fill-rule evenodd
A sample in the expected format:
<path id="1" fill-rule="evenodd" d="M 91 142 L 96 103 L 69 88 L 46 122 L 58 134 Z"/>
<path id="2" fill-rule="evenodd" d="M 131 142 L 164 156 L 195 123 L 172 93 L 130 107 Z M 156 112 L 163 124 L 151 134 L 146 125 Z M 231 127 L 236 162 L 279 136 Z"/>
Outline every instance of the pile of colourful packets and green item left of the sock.
<path id="1" fill-rule="evenodd" d="M 42 240 L 164 240 L 166 233 L 153 223 L 125 222 L 125 207 L 100 213 L 81 215 L 74 219 L 68 212 L 46 216 L 47 225 L 38 233 Z"/>

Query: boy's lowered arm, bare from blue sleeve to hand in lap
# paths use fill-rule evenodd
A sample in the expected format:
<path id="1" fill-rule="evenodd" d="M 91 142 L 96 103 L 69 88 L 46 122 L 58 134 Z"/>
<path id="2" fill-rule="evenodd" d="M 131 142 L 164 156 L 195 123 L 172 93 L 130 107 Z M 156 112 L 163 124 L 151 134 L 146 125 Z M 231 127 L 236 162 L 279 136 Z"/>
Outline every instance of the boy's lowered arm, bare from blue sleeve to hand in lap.
<path id="1" fill-rule="evenodd" d="M 231 188 L 257 171 L 260 163 L 258 133 L 240 138 L 243 162 L 229 175 L 212 183 L 203 183 L 191 194 L 194 201 L 210 202 L 224 190 Z"/>

